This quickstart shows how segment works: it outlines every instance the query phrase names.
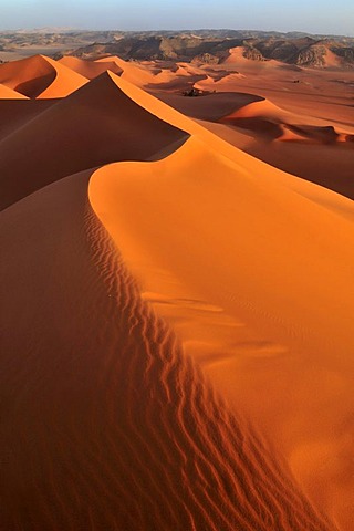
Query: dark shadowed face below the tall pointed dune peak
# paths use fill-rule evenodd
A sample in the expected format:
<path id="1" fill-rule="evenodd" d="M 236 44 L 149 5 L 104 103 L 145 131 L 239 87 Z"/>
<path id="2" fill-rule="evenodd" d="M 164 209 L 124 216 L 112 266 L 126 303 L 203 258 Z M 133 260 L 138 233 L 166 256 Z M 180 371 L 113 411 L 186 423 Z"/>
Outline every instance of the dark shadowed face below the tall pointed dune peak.
<path id="1" fill-rule="evenodd" d="M 104 73 L 0 142 L 1 208 L 58 178 L 113 160 L 144 160 L 186 137 Z"/>

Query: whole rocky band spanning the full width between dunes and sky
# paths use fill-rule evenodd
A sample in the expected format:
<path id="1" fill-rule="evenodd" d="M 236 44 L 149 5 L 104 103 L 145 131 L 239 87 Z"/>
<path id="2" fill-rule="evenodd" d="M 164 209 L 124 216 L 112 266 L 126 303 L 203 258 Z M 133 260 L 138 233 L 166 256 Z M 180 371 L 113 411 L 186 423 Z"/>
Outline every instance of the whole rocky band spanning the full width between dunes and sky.
<path id="1" fill-rule="evenodd" d="M 74 55 L 95 59 L 119 55 L 125 60 L 173 60 L 222 63 L 229 50 L 241 48 L 252 61 L 277 60 L 305 67 L 354 67 L 354 38 L 240 30 L 196 31 L 64 31 L 3 32 L 0 50 L 49 46 L 55 59 Z M 0 58 L 1 59 L 1 58 Z"/>

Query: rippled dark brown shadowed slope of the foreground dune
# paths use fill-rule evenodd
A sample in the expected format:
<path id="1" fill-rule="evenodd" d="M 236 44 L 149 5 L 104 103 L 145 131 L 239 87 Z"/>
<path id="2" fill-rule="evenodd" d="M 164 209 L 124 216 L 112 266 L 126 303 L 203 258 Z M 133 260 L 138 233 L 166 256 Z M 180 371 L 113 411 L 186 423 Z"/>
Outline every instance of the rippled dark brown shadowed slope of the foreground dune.
<path id="1" fill-rule="evenodd" d="M 2 214 L 2 529 L 332 529 L 142 301 L 88 177 Z"/>

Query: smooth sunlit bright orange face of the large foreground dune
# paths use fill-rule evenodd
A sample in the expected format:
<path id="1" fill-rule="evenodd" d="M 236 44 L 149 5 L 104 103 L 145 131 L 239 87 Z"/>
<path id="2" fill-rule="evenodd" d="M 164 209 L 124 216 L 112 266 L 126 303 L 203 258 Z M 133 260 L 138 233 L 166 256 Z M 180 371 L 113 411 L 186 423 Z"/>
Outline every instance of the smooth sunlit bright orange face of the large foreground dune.
<path id="1" fill-rule="evenodd" d="M 277 440 L 316 506 L 351 521 L 352 204 L 329 190 L 309 201 L 306 183 L 294 191 L 257 167 L 192 137 L 166 159 L 98 169 L 88 197 L 186 352 Z"/>

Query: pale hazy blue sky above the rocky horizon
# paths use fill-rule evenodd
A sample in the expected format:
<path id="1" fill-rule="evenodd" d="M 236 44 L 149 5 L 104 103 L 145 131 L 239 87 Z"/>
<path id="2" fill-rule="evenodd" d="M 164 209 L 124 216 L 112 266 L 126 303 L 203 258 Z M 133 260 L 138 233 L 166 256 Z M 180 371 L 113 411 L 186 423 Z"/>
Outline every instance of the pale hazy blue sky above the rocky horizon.
<path id="1" fill-rule="evenodd" d="M 0 30 L 201 28 L 354 37 L 354 0 L 0 0 Z"/>

